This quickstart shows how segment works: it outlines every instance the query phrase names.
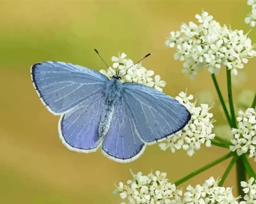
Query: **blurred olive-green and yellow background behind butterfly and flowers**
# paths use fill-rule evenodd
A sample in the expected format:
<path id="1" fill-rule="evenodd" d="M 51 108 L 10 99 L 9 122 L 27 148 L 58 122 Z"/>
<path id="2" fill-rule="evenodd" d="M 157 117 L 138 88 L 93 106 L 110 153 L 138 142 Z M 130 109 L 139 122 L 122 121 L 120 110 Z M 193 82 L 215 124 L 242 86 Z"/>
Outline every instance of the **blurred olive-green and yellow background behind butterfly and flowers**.
<path id="1" fill-rule="evenodd" d="M 225 120 L 210 74 L 205 71 L 190 81 L 181 73 L 182 63 L 173 59 L 175 49 L 165 46 L 170 31 L 178 31 L 182 22 L 195 22 L 195 14 L 202 9 L 221 25 L 249 30 L 244 24 L 251 9 L 246 1 L 1 1 L 0 202 L 120 203 L 119 196 L 112 194 L 113 183 L 132 178 L 129 168 L 146 174 L 152 168 L 164 171 L 174 182 L 225 154 L 228 150 L 213 146 L 188 157 L 183 150 L 171 153 L 153 145 L 138 160 L 121 164 L 100 151 L 69 151 L 58 137 L 59 117 L 42 105 L 30 76 L 31 65 L 46 60 L 105 69 L 94 48 L 108 64 L 117 52 L 134 61 L 151 52 L 143 65 L 167 81 L 164 92 L 176 96 L 188 88 L 202 102 L 207 93 L 208 102 L 215 102 L 214 125 L 223 135 Z M 255 34 L 255 29 L 249 34 L 252 42 L 256 42 Z M 234 87 L 235 100 L 240 97 L 246 103 L 241 91 L 255 90 L 255 63 L 250 59 L 241 72 L 243 83 Z M 224 68 L 217 79 L 226 96 Z M 255 169 L 255 162 L 250 161 Z M 222 176 L 227 164 L 228 160 L 180 187 Z M 234 186 L 237 194 L 235 185 L 233 168 L 224 186 Z"/>

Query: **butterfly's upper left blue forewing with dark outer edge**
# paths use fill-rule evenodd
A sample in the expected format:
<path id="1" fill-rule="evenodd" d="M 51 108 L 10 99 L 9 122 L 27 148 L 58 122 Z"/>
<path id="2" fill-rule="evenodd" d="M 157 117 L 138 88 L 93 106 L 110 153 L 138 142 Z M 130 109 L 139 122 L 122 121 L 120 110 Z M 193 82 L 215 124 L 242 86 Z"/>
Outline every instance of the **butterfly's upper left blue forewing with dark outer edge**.
<path id="1" fill-rule="evenodd" d="M 105 90 L 109 79 L 79 65 L 47 61 L 31 67 L 32 81 L 43 104 L 60 115 Z"/>

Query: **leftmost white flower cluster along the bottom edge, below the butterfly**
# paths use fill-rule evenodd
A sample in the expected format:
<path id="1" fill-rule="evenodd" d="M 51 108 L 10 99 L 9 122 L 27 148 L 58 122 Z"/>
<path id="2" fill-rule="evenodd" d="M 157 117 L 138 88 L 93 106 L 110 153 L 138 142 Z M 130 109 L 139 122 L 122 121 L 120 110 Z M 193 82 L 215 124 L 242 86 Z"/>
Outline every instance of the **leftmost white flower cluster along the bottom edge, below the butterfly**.
<path id="1" fill-rule="evenodd" d="M 156 171 L 156 174 L 143 175 L 142 172 L 134 174 L 130 169 L 133 180 L 128 180 L 127 185 L 119 182 L 114 193 L 118 192 L 122 199 L 127 198 L 128 203 L 182 203 L 182 190 L 176 190 L 175 184 L 168 182 L 167 174 Z M 172 200 L 172 201 L 171 201 Z"/>

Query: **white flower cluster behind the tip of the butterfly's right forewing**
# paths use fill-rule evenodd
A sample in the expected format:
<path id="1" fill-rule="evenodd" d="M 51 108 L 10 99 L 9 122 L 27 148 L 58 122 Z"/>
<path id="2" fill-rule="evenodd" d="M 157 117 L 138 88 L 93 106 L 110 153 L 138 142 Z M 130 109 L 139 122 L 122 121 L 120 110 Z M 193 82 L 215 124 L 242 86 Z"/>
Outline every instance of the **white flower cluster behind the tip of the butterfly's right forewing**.
<path id="1" fill-rule="evenodd" d="M 212 133 L 213 120 L 212 113 L 208 111 L 212 106 L 201 104 L 196 106 L 196 101 L 191 102 L 192 95 L 187 96 L 186 93 L 181 92 L 176 97 L 181 104 L 183 104 L 191 113 L 191 120 L 181 131 L 169 137 L 165 142 L 160 143 L 159 146 L 162 150 L 170 149 L 175 152 L 176 149 L 184 149 L 187 155 L 192 156 L 195 151 L 200 149 L 201 145 L 205 143 L 207 147 L 211 146 L 211 139 L 215 137 Z"/>

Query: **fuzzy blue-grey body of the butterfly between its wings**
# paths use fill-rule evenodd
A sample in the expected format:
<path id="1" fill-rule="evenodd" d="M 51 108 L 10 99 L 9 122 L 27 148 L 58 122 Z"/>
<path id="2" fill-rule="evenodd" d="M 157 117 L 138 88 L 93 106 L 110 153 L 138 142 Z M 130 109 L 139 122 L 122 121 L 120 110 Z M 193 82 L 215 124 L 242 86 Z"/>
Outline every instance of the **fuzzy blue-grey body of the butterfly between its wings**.
<path id="1" fill-rule="evenodd" d="M 106 86 L 106 102 L 99 123 L 99 136 L 103 137 L 109 130 L 110 122 L 114 113 L 114 102 L 119 100 L 122 91 L 122 83 L 119 79 L 113 78 L 109 80 Z"/>

